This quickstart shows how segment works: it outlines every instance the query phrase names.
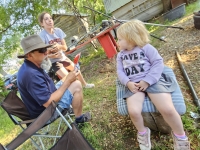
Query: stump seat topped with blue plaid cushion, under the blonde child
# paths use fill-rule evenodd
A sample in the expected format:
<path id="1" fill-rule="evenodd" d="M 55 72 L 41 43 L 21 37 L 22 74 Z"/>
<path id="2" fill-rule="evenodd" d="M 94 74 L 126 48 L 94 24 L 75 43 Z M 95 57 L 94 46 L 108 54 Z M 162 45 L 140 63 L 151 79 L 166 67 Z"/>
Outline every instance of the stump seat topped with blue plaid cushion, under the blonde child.
<path id="1" fill-rule="evenodd" d="M 186 112 L 186 106 L 185 106 L 183 94 L 178 85 L 175 74 L 171 68 L 166 67 L 166 66 L 164 67 L 163 73 L 172 77 L 177 83 L 176 90 L 171 93 L 172 102 L 174 104 L 176 111 L 179 113 L 179 115 L 183 115 Z M 117 94 L 118 113 L 120 115 L 128 115 L 127 103 L 126 103 L 126 100 L 123 99 L 125 88 L 127 87 L 122 85 L 118 79 L 116 81 L 116 85 L 117 85 L 116 94 Z M 158 112 L 158 110 L 156 109 L 156 107 L 151 102 L 148 96 L 146 96 L 144 99 L 142 116 L 143 116 L 145 125 L 148 126 L 150 129 L 160 131 L 163 133 L 170 133 L 171 128 L 165 122 L 162 115 Z"/>

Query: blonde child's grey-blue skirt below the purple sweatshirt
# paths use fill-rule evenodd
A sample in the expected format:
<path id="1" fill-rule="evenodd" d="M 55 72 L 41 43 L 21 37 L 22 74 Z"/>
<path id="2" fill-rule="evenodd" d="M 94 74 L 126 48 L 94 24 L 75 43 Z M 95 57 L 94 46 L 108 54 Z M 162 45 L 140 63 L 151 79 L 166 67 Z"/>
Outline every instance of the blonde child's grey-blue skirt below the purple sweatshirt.
<path id="1" fill-rule="evenodd" d="M 149 86 L 144 92 L 145 93 L 171 93 L 177 88 L 176 81 L 168 76 L 167 74 L 162 73 L 160 79 L 155 84 Z M 126 99 L 132 96 L 134 93 L 129 90 L 128 87 L 125 89 L 125 94 L 123 98 Z"/>

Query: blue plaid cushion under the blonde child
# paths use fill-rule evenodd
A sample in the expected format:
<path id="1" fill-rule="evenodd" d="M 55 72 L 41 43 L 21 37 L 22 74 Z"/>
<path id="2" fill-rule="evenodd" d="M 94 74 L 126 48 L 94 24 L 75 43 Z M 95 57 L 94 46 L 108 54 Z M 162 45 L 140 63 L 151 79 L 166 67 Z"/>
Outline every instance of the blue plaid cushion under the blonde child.
<path id="1" fill-rule="evenodd" d="M 175 79 L 176 83 L 176 77 L 173 72 L 173 70 L 169 67 L 164 67 L 163 73 L 168 74 L 171 76 L 173 79 Z M 120 115 L 128 115 L 128 109 L 127 109 L 127 104 L 126 100 L 122 98 L 125 92 L 125 86 L 120 83 L 120 81 L 117 79 L 116 81 L 117 89 L 116 89 L 116 94 L 117 94 L 117 109 L 118 113 Z M 174 92 L 171 93 L 172 95 L 172 101 L 174 104 L 175 109 L 180 115 L 183 115 L 186 112 L 186 105 L 184 102 L 184 98 L 181 92 L 181 89 L 177 83 L 177 88 Z M 162 99 L 161 99 L 162 100 Z M 143 103 L 143 109 L 142 112 L 158 112 L 158 110 L 155 108 L 154 104 L 151 102 L 148 96 L 145 97 L 144 103 Z"/>

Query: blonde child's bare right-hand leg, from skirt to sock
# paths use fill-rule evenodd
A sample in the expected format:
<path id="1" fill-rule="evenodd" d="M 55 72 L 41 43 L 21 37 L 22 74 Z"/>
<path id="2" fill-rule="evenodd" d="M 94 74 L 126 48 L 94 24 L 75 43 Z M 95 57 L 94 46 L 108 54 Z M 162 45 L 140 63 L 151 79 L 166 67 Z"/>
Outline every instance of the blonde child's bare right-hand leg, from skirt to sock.
<path id="1" fill-rule="evenodd" d="M 180 115 L 174 108 L 170 93 L 148 93 L 151 101 L 158 111 L 162 114 L 165 121 L 172 128 L 172 131 L 178 135 L 184 135 L 183 123 Z"/>

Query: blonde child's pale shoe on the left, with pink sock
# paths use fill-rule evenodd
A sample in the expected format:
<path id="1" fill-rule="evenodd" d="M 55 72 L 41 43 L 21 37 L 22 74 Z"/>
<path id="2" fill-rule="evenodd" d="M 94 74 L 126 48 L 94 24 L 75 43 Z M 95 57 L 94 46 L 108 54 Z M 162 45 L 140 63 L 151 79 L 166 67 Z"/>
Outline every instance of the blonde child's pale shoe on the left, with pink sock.
<path id="1" fill-rule="evenodd" d="M 151 140 L 150 140 L 151 130 L 147 127 L 145 134 L 137 134 L 137 140 L 140 145 L 141 150 L 150 150 L 151 149 Z"/>

